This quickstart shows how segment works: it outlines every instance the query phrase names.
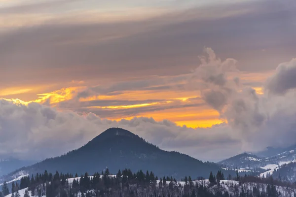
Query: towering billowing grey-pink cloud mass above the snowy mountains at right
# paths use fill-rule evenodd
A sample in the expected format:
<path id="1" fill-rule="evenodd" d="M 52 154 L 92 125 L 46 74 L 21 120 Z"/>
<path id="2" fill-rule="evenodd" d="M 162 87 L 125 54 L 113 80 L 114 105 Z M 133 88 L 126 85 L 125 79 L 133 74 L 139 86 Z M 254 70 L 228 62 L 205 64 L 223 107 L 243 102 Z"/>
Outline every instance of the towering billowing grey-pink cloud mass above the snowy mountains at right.
<path id="1" fill-rule="evenodd" d="M 202 99 L 219 111 L 233 133 L 241 138 L 243 149 L 256 151 L 296 144 L 292 121 L 296 118 L 296 59 L 280 64 L 266 81 L 266 89 L 275 94 L 259 95 L 252 87 L 241 84 L 238 77 L 232 77 L 233 72 L 240 74 L 235 60 L 221 61 L 210 48 L 205 52 L 208 58 L 203 58 L 193 73 L 199 80 L 196 86 Z"/>

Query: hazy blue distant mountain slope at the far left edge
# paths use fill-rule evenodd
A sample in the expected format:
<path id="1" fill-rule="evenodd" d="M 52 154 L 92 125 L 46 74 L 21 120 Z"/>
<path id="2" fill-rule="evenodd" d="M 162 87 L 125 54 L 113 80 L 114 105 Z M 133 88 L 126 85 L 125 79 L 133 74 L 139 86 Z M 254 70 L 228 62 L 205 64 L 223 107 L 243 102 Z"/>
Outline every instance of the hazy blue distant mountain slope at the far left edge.
<path id="1" fill-rule="evenodd" d="M 0 176 L 8 174 L 9 172 L 18 169 L 23 166 L 31 165 L 36 163 L 36 161 L 23 161 L 13 158 L 7 158 L 0 156 Z"/>

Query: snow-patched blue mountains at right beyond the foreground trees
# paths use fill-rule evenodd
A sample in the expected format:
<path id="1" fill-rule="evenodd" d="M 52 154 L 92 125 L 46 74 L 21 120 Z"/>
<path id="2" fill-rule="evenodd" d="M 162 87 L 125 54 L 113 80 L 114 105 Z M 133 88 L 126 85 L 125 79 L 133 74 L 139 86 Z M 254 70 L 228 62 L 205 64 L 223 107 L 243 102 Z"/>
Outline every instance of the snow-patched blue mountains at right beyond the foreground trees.
<path id="1" fill-rule="evenodd" d="M 274 178 L 296 180 L 296 146 L 269 148 L 257 154 L 242 153 L 218 164 L 227 169 L 251 170 L 260 177 L 273 175 Z"/>

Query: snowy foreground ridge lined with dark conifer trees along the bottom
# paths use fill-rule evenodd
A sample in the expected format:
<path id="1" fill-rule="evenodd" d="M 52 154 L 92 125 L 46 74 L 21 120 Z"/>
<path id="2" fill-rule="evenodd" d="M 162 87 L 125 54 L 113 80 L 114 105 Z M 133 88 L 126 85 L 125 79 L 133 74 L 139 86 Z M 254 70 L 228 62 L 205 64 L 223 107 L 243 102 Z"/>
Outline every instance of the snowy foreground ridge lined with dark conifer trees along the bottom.
<path id="1" fill-rule="evenodd" d="M 238 184 L 237 184 L 238 183 Z M 11 197 L 296 197 L 295 185 L 272 178 L 236 176 L 225 179 L 221 170 L 212 172 L 209 179 L 193 180 L 185 176 L 181 182 L 173 177 L 158 179 L 152 171 L 118 170 L 111 175 L 109 169 L 90 176 L 77 174 L 44 173 L 21 178 L 12 183 Z M 279 187 L 282 189 L 279 190 Z M 0 197 L 10 193 L 7 183 L 2 185 Z M 31 194 L 31 195 L 30 195 Z"/>

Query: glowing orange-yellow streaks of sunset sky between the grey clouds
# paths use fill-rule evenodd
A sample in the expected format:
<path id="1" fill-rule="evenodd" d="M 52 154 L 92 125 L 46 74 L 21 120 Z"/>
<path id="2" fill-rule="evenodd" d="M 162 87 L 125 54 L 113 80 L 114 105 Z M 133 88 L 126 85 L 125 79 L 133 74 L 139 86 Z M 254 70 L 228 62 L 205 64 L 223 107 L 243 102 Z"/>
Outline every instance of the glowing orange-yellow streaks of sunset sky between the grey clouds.
<path id="1" fill-rule="evenodd" d="M 254 80 L 253 77 L 248 76 L 249 80 Z M 254 75 L 256 78 L 256 75 Z M 264 77 L 262 77 L 264 78 Z M 257 79 L 257 78 L 256 78 Z M 258 79 L 257 79 L 258 80 Z M 30 102 L 37 102 L 41 104 L 47 104 L 50 106 L 54 106 L 59 108 L 59 103 L 64 101 L 73 100 L 78 92 L 85 90 L 87 87 L 83 86 L 83 82 L 77 82 L 76 84 L 82 86 L 73 86 L 73 87 L 65 87 L 60 90 L 55 90 L 50 93 L 42 93 L 42 88 L 40 87 L 11 87 L 6 88 L 0 91 L 0 97 L 6 99 L 12 99 L 16 103 L 28 104 Z M 254 87 L 258 94 L 263 94 L 261 87 Z M 40 91 L 40 93 L 36 93 L 36 91 Z M 32 96 L 35 95 L 35 96 Z M 13 99 L 20 98 L 20 99 Z M 30 99 L 28 99 L 30 98 Z M 186 125 L 187 127 L 211 127 L 212 125 L 220 124 L 225 120 L 220 119 L 219 113 L 210 108 L 207 105 L 203 105 L 202 101 L 192 101 L 192 99 L 200 98 L 198 92 L 177 92 L 177 91 L 163 91 L 163 92 L 155 92 L 149 90 L 135 90 L 135 91 L 124 91 L 120 95 L 99 95 L 99 96 L 90 96 L 87 98 L 80 98 L 75 100 L 76 102 L 86 102 L 86 101 L 96 101 L 96 100 L 148 100 L 148 99 L 162 99 L 159 102 L 146 102 L 140 104 L 126 104 L 126 105 L 109 105 L 109 106 L 87 106 L 87 109 L 103 109 L 103 110 L 117 110 L 117 109 L 131 109 L 134 108 L 136 111 L 138 109 L 142 109 L 148 106 L 164 106 L 169 105 L 172 102 L 177 102 L 181 105 L 186 105 L 194 102 L 195 104 L 200 103 L 200 106 L 191 106 L 191 107 L 181 107 L 181 108 L 166 108 L 162 110 L 155 111 L 145 111 L 137 113 L 136 116 L 140 117 L 152 117 L 156 121 L 161 120 L 170 120 L 175 122 L 179 126 Z M 24 100 L 24 101 L 22 101 Z M 77 103 L 73 103 L 73 108 Z M 71 104 L 70 104 L 71 105 Z M 71 105 L 72 106 L 72 105 Z M 61 108 L 60 110 L 63 110 Z M 111 120 L 120 120 L 120 119 L 132 119 L 134 116 L 124 115 L 118 117 L 117 115 L 109 115 L 108 119 Z"/>

